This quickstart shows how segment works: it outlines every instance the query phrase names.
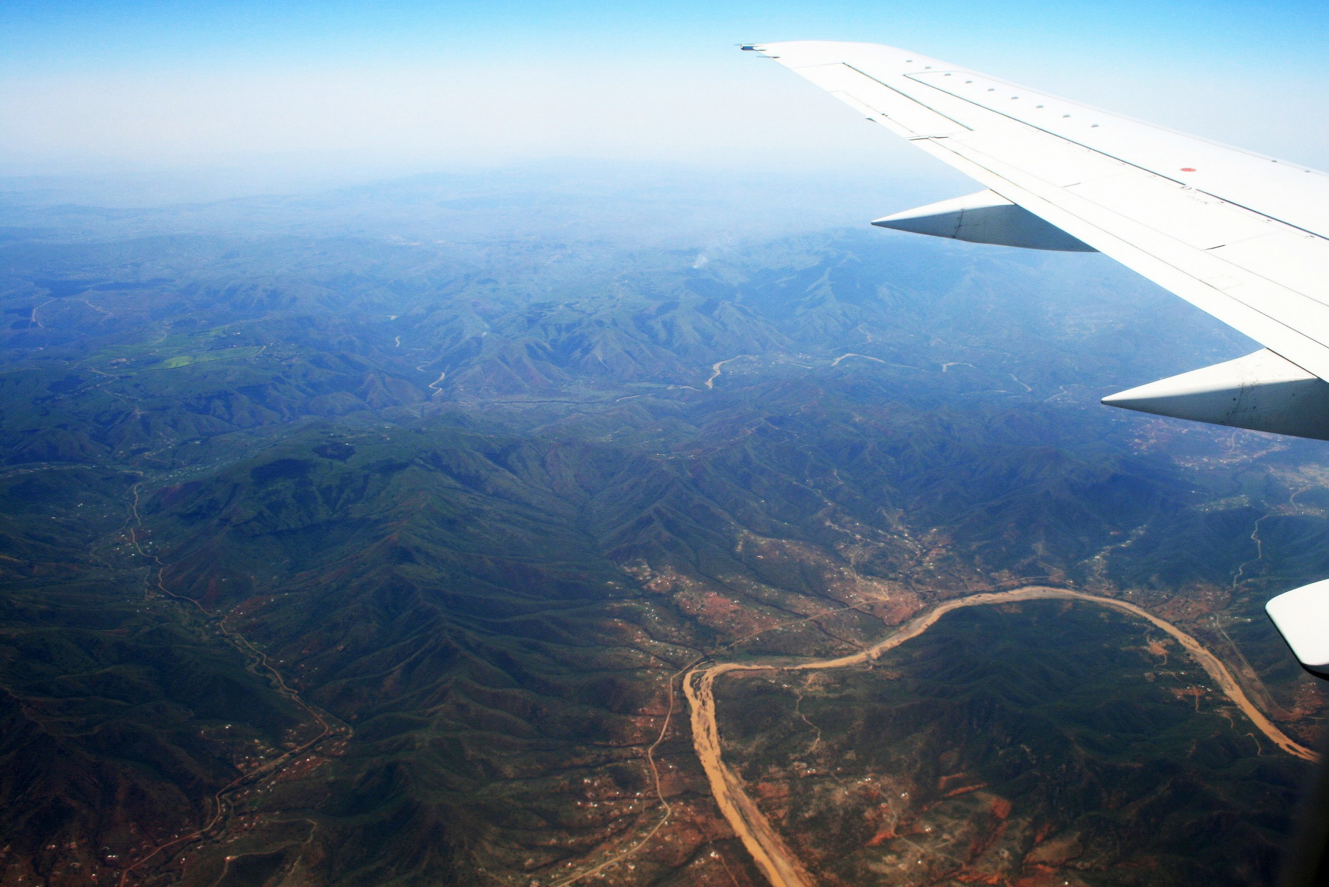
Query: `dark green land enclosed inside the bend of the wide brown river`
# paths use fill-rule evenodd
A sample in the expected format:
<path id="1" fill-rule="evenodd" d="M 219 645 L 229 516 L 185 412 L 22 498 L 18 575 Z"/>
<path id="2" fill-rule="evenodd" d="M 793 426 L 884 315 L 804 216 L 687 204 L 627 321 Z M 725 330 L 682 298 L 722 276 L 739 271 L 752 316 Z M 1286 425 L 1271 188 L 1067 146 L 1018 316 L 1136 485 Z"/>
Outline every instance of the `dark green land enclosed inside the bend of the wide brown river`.
<path id="1" fill-rule="evenodd" d="M 1269 883 L 1312 769 L 1166 634 L 1086 604 L 776 674 L 720 685 L 726 753 L 825 884 Z"/>

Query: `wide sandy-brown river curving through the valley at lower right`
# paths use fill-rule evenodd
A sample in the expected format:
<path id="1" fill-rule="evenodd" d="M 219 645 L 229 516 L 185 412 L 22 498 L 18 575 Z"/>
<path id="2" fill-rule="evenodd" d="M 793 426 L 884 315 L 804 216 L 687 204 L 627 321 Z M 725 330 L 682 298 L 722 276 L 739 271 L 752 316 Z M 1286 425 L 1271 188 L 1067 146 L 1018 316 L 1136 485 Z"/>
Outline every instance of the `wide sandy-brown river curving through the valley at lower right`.
<path id="1" fill-rule="evenodd" d="M 1037 600 L 1070 600 L 1111 606 L 1131 616 L 1138 616 L 1156 628 L 1163 629 L 1185 648 L 1200 668 L 1208 672 L 1209 677 L 1219 685 L 1232 702 L 1241 709 L 1252 723 L 1260 729 L 1276 746 L 1305 761 L 1316 761 L 1317 755 L 1304 745 L 1293 742 L 1282 730 L 1269 722 L 1264 714 L 1251 703 L 1245 693 L 1232 678 L 1227 666 L 1213 653 L 1209 653 L 1199 641 L 1174 626 L 1170 622 L 1148 613 L 1147 610 L 1119 601 L 1111 597 L 1098 597 L 1084 594 L 1065 588 L 1045 588 L 1031 585 L 1017 588 L 1010 592 L 990 592 L 973 594 L 945 601 L 936 608 L 914 617 L 900 626 L 897 632 L 884 641 L 873 644 L 868 649 L 841 656 L 835 660 L 820 660 L 816 662 L 803 662 L 800 665 L 762 665 L 758 662 L 716 662 L 699 665 L 683 676 L 683 694 L 687 697 L 692 721 L 692 745 L 696 747 L 696 757 L 700 758 L 706 769 L 706 777 L 711 783 L 711 793 L 715 802 L 728 821 L 730 826 L 743 840 L 743 846 L 752 854 L 758 867 L 766 874 L 772 887 L 813 887 L 815 882 L 808 871 L 789 850 L 780 834 L 771 826 L 762 814 L 756 803 L 743 790 L 743 781 L 731 771 L 720 757 L 720 733 L 715 723 L 715 678 L 727 672 L 811 672 L 821 669 L 841 669 L 849 665 L 863 665 L 880 657 L 886 650 L 892 650 L 905 641 L 918 637 L 937 624 L 942 616 L 962 606 L 982 606 L 987 604 L 1010 604 L 1014 601 Z"/>

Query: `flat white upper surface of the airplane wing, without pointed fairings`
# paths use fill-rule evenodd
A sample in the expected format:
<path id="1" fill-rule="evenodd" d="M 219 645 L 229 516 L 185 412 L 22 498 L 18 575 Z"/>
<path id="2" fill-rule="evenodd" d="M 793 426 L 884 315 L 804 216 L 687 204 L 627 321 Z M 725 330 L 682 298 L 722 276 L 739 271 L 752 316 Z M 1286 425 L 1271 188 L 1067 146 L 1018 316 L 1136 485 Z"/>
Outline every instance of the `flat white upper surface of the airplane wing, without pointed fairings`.
<path id="1" fill-rule="evenodd" d="M 1308 371 L 1301 378 L 1313 386 L 1288 403 L 1329 410 L 1329 386 L 1320 382 L 1329 379 L 1329 176 L 892 47 L 797 41 L 744 49 L 1296 364 L 1282 366 L 1281 382 L 1297 367 Z M 958 230 L 960 215 L 948 218 Z M 1277 360 L 1260 354 L 1260 366 Z M 1151 406 L 1132 403 L 1132 392 L 1112 403 L 1180 415 L 1158 408 L 1159 386 L 1152 383 Z M 1249 415 L 1187 418 L 1282 430 Z"/>

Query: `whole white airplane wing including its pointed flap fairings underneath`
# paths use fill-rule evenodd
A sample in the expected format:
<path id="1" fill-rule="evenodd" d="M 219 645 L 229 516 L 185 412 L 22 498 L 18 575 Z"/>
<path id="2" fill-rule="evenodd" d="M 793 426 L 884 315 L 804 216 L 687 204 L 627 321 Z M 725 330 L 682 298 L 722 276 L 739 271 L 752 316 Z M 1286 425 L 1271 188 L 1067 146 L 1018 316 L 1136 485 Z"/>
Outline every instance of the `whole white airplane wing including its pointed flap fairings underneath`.
<path id="1" fill-rule="evenodd" d="M 743 48 L 986 189 L 874 225 L 1102 251 L 1265 346 L 1104 403 L 1329 440 L 1329 176 L 893 47 Z M 1267 610 L 1329 678 L 1329 580 Z"/>

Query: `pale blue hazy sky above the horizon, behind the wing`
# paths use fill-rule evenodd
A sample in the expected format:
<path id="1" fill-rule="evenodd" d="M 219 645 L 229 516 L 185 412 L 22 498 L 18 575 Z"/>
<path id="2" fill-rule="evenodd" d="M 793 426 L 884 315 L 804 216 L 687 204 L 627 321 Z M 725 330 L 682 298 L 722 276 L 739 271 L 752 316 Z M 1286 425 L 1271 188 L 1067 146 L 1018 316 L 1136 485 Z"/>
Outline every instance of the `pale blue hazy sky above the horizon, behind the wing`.
<path id="1" fill-rule="evenodd" d="M 548 157 L 936 169 L 735 47 L 792 39 L 901 45 L 1329 166 L 1325 0 L 9 0 L 0 33 L 9 174 Z"/>

